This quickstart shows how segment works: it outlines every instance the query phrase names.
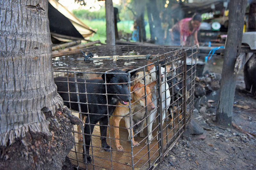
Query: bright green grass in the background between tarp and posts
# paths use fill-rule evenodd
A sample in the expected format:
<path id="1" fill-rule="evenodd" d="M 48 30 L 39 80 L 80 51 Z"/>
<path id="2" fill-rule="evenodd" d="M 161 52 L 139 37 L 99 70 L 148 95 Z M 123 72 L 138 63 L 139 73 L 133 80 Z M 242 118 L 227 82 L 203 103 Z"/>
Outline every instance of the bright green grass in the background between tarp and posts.
<path id="1" fill-rule="evenodd" d="M 81 18 L 80 18 L 81 19 Z M 87 20 L 81 19 L 85 25 L 91 27 L 93 30 L 97 29 L 96 32 L 89 40 L 96 41 L 100 40 L 101 43 L 106 43 L 106 21 L 105 20 Z M 118 31 L 122 30 L 127 33 L 132 33 L 130 30 L 131 26 L 133 25 L 133 21 L 120 21 L 117 23 Z M 147 24 L 146 27 L 146 37 L 147 39 L 150 38 L 149 32 L 149 25 Z"/>

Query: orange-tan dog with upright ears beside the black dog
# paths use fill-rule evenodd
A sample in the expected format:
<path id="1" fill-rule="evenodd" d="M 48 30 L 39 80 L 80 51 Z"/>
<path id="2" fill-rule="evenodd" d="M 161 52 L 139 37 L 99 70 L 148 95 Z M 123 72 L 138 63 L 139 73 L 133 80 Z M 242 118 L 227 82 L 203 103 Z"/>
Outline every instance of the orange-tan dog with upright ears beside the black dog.
<path id="1" fill-rule="evenodd" d="M 146 92 L 147 92 L 147 110 L 151 111 L 155 109 L 155 105 L 153 104 L 153 102 L 151 101 L 151 89 L 153 89 L 153 87 L 155 86 L 156 81 L 148 84 L 146 87 Z M 133 91 L 131 93 L 131 114 L 134 112 L 136 107 L 145 107 L 145 92 L 144 92 L 144 84 L 140 84 L 140 82 L 136 83 L 134 86 L 131 87 L 131 91 Z M 137 101 L 137 102 L 136 102 Z M 126 105 L 121 104 L 120 102 L 118 102 L 119 106 L 129 106 L 129 103 L 127 103 Z M 114 110 L 113 113 L 114 116 L 112 116 L 113 118 L 113 122 L 114 122 L 114 133 L 115 133 L 115 143 L 116 143 L 116 149 L 117 151 L 124 151 L 123 147 L 120 145 L 120 141 L 119 141 L 119 123 L 120 120 L 123 118 L 123 116 L 129 116 L 129 108 L 128 107 L 116 107 L 116 109 Z M 125 126 L 126 128 L 130 128 L 130 118 L 129 117 L 124 117 L 124 121 L 125 121 Z M 129 137 L 132 137 L 132 145 L 135 146 L 138 144 L 138 142 L 134 141 L 134 133 L 133 133 L 133 129 L 132 129 L 132 135 L 130 133 L 130 129 L 127 129 L 128 133 L 129 133 Z M 129 138 L 128 137 L 128 138 Z"/>

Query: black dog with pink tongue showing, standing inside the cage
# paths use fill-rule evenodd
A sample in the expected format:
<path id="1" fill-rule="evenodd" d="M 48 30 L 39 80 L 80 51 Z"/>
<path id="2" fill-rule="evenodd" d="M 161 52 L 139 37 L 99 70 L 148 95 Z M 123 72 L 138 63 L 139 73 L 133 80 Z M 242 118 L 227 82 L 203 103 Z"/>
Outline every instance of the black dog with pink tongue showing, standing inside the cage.
<path id="1" fill-rule="evenodd" d="M 121 70 L 114 70 L 111 71 L 114 73 L 125 73 Z M 128 72 L 128 71 L 127 71 Z M 131 76 L 135 72 L 131 73 Z M 77 102 L 77 94 L 76 94 L 76 84 L 74 82 L 74 78 L 68 78 L 69 83 L 61 82 L 67 81 L 67 77 L 57 77 L 54 78 L 54 81 L 58 88 L 58 93 L 63 98 L 64 105 L 68 107 L 71 106 L 71 109 L 79 111 L 78 103 Z M 107 136 L 107 125 L 108 125 L 108 116 L 113 114 L 113 111 L 116 106 L 110 105 L 117 105 L 117 102 L 121 102 L 126 104 L 129 102 L 129 90 L 128 90 L 128 76 L 125 74 L 106 74 L 106 83 L 116 83 L 116 84 L 107 84 L 107 97 L 106 97 L 106 86 L 105 84 L 95 84 L 95 83 L 105 83 L 105 74 L 102 75 L 102 79 L 95 78 L 86 80 L 86 91 L 85 91 L 85 84 L 84 79 L 77 79 L 77 86 L 79 93 L 97 93 L 97 94 L 79 94 L 80 103 L 88 102 L 89 113 L 93 114 L 85 114 L 87 113 L 87 104 L 81 104 L 81 111 L 87 116 L 85 120 L 84 126 L 84 138 L 86 144 L 86 157 L 87 163 L 91 163 L 92 159 L 89 155 L 89 148 L 90 148 L 90 134 L 92 134 L 94 125 L 99 122 L 100 123 L 100 140 L 101 140 L 101 147 L 104 148 L 105 151 L 110 151 L 110 146 L 106 142 Z M 80 83 L 79 83 L 80 82 Z M 120 83 L 120 84 L 118 84 Z M 122 84 L 124 83 L 124 84 Z M 69 92 L 70 93 L 70 106 L 69 106 L 69 97 L 68 97 L 68 85 L 69 85 Z M 121 94 L 121 95 L 118 95 Z M 126 95 L 126 96 L 125 96 Z M 108 102 L 108 103 L 107 103 Z M 108 106 L 106 105 L 108 104 Z M 90 117 L 90 119 L 89 119 Z M 90 126 L 88 125 L 90 120 Z M 91 129 L 91 131 L 90 131 Z M 112 148 L 111 148 L 112 149 Z M 84 152 L 85 153 L 85 152 Z M 85 156 L 83 154 L 83 161 L 86 162 Z"/>

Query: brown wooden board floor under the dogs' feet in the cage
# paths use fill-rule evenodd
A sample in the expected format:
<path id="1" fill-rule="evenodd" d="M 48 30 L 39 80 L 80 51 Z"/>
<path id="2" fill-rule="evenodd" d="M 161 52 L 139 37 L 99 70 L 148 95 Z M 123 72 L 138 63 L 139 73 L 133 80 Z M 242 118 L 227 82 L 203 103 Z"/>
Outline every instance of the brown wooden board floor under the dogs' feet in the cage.
<path id="1" fill-rule="evenodd" d="M 78 116 L 77 113 L 74 113 L 76 116 Z M 164 150 L 166 150 L 166 138 L 168 139 L 168 144 L 171 145 L 172 142 L 174 141 L 173 135 L 175 133 L 176 136 L 178 136 L 183 130 L 184 128 L 180 129 L 182 127 L 183 122 L 181 121 L 178 124 L 178 117 L 176 117 L 174 119 L 174 126 L 175 128 L 170 129 L 169 127 L 166 126 L 166 123 L 164 122 L 163 125 L 163 143 L 164 143 Z M 170 121 L 167 121 L 167 124 L 169 124 Z M 109 125 L 113 125 L 112 122 L 112 118 L 109 119 Z M 120 121 L 120 127 L 125 127 L 125 122 L 122 119 Z M 113 150 L 111 152 L 105 152 L 102 148 L 101 148 L 101 140 L 100 140 L 100 126 L 95 125 L 94 130 L 93 130 L 93 135 L 92 136 L 92 146 L 90 147 L 90 155 L 93 159 L 91 164 L 87 164 L 87 168 L 88 169 L 93 169 L 93 165 L 94 165 L 94 169 L 111 169 L 111 166 L 113 169 L 132 169 L 132 154 L 131 154 L 131 141 L 128 141 L 128 131 L 127 129 L 124 128 L 119 128 L 119 135 L 120 135 L 120 144 L 123 146 L 124 148 L 124 152 L 120 152 L 116 150 L 116 145 L 115 145 L 115 141 L 114 141 L 114 129 L 113 127 L 109 128 L 110 131 L 107 131 L 107 137 L 109 137 L 110 134 L 110 138 L 107 138 L 107 143 L 108 145 L 111 145 L 111 147 L 113 148 Z M 154 123 L 153 124 L 153 128 L 152 130 L 155 129 L 153 131 L 153 136 L 155 137 L 151 144 L 148 145 L 145 144 L 145 142 L 147 141 L 147 138 L 140 138 L 139 134 L 137 135 L 137 137 L 135 137 L 135 141 L 139 142 L 140 145 L 138 146 L 134 146 L 133 147 L 133 165 L 134 165 L 134 169 L 148 169 L 149 167 L 149 163 L 148 161 L 150 161 L 150 166 L 155 166 L 155 161 L 156 159 L 159 157 L 159 148 L 158 148 L 158 142 L 156 139 L 156 134 L 157 134 L 157 124 Z M 167 136 L 166 136 L 166 131 L 167 131 Z M 173 132 L 174 131 L 174 132 Z M 78 141 L 77 139 L 77 126 L 74 126 L 74 135 L 75 135 L 75 146 L 73 147 L 73 149 L 71 149 L 71 151 L 68 154 L 68 157 L 70 159 L 70 161 L 72 162 L 72 164 L 74 166 L 78 166 L 81 168 L 86 169 L 85 164 L 83 163 L 83 156 L 82 156 L 82 152 L 83 152 L 83 142 L 82 141 Z M 144 134 L 147 134 L 147 130 L 144 129 Z M 176 137 L 175 136 L 175 137 Z M 176 138 L 175 138 L 176 139 Z M 149 150 L 149 151 L 148 151 Z M 93 153 L 92 153 L 93 152 Z M 149 154 L 148 154 L 149 153 Z M 93 156 L 92 156 L 93 155 Z M 155 165 L 154 165 L 155 164 Z"/>

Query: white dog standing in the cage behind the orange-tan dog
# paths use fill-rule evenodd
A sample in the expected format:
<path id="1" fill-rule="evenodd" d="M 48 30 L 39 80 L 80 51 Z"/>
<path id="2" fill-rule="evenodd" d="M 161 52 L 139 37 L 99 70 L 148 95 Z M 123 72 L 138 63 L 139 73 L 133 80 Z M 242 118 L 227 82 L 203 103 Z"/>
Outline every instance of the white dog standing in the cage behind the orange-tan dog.
<path id="1" fill-rule="evenodd" d="M 170 71 L 170 67 L 166 66 L 166 73 Z M 156 80 L 156 67 L 154 65 L 150 65 L 148 66 L 148 71 L 151 73 L 151 80 L 154 81 Z M 169 90 L 169 86 L 168 83 L 166 82 L 166 74 L 164 74 L 164 67 L 161 67 L 161 80 L 162 82 L 165 81 L 165 83 L 161 83 L 161 96 L 162 96 L 162 120 L 163 120 L 163 124 L 164 124 L 164 119 L 165 119 L 165 115 L 167 113 L 167 110 L 170 106 L 170 102 L 171 102 L 171 95 L 170 95 L 170 90 Z M 157 94 L 156 94 L 156 86 L 154 86 L 154 88 L 151 90 L 152 91 L 152 101 L 154 103 L 155 106 L 157 106 Z M 166 97 L 165 97 L 165 92 L 166 91 Z M 166 107 L 165 107 L 165 100 L 166 100 Z M 151 141 L 153 139 L 153 135 L 152 135 L 152 125 L 153 125 L 153 120 L 156 117 L 156 112 L 157 109 L 152 110 L 150 112 L 150 115 L 148 117 L 148 140 Z M 157 136 L 158 137 L 158 136 Z M 157 138 L 158 139 L 158 138 Z M 146 141 L 147 143 L 147 141 Z M 149 142 L 151 143 L 151 142 Z"/>

